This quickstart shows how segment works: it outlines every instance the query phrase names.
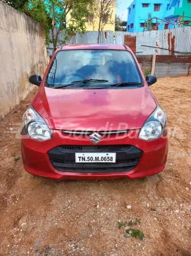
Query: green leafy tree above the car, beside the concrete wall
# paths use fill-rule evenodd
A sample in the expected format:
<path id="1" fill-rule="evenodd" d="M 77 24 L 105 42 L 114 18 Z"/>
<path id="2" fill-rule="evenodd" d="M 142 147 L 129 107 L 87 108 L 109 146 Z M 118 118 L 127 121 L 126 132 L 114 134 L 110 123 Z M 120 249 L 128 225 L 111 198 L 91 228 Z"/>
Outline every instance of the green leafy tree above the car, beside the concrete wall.
<path id="1" fill-rule="evenodd" d="M 77 32 L 86 32 L 86 17 L 91 3 L 92 0 L 29 0 L 25 13 L 44 26 L 46 44 L 53 43 L 56 50 L 57 44 L 66 43 Z M 71 18 L 66 21 L 69 13 Z M 62 39 L 59 40 L 61 31 Z"/>

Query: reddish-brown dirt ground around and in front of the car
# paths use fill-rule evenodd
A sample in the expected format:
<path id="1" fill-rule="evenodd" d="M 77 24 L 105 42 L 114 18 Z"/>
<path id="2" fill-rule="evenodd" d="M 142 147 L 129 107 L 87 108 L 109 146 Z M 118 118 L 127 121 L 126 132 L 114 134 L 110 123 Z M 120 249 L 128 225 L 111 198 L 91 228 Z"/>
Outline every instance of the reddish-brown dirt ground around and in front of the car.
<path id="1" fill-rule="evenodd" d="M 0 122 L 0 255 L 191 255 L 190 86 L 191 77 L 151 86 L 168 117 L 168 160 L 160 174 L 137 180 L 29 175 L 16 160 L 20 139 L 13 132 L 32 92 Z M 118 221 L 136 218 L 141 223 L 129 228 L 143 232 L 142 241 L 118 228 Z"/>

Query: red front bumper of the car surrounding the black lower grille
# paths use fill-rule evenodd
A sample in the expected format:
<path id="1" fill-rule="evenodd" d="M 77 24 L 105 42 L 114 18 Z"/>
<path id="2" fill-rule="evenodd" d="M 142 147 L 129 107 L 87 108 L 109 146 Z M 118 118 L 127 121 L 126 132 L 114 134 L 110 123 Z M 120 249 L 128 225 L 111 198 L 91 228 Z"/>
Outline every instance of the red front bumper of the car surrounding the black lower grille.
<path id="1" fill-rule="evenodd" d="M 133 170 L 118 172 L 65 172 L 58 171 L 50 162 L 48 152 L 61 145 L 89 145 L 87 138 L 64 137 L 60 130 L 53 130 L 52 139 L 39 142 L 22 135 L 22 158 L 24 168 L 32 175 L 48 177 L 50 179 L 135 179 L 163 171 L 167 160 L 167 134 L 154 141 L 138 139 L 139 130 L 130 130 L 127 135 L 118 138 L 111 136 L 103 138 L 99 145 L 131 145 L 142 151 L 141 158 Z"/>

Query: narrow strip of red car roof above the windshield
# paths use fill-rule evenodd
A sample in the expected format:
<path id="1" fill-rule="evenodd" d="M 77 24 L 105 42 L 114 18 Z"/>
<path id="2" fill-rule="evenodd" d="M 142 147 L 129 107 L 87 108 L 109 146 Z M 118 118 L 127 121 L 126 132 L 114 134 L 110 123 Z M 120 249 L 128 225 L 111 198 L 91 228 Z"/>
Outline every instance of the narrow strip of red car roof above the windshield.
<path id="1" fill-rule="evenodd" d="M 117 45 L 117 44 L 64 44 L 60 46 L 58 51 L 69 50 L 69 49 L 114 49 L 114 50 L 128 50 L 128 46 Z"/>

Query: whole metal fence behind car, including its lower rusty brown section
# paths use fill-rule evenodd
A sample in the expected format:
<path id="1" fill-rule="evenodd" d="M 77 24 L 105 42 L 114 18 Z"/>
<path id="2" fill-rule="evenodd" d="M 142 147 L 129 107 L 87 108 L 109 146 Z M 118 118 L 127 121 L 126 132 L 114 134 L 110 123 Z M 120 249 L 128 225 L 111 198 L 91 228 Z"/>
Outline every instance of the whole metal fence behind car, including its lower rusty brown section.
<path id="1" fill-rule="evenodd" d="M 64 36 L 60 33 L 58 39 Z M 98 32 L 77 33 L 66 44 L 97 43 Z M 191 27 L 169 30 L 145 31 L 138 33 L 101 32 L 101 43 L 125 44 L 135 53 L 143 73 L 151 73 L 152 55 L 155 59 L 156 77 L 191 76 Z M 53 52 L 53 44 L 47 47 L 48 55 Z"/>

